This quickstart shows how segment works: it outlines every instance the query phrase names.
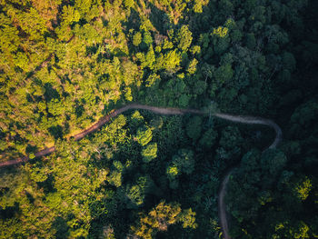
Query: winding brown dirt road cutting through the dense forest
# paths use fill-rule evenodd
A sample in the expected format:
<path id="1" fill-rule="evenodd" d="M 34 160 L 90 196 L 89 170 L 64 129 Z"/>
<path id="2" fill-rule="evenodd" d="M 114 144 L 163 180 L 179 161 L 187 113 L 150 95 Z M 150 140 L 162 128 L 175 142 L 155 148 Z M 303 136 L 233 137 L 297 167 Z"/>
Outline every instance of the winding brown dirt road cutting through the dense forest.
<path id="1" fill-rule="evenodd" d="M 162 108 L 162 107 L 155 107 L 150 105 L 130 104 L 130 105 L 125 105 L 122 108 L 119 108 L 117 110 L 114 110 L 114 112 L 112 112 L 110 115 L 105 115 L 96 124 L 85 129 L 79 134 L 75 134 L 72 137 L 74 137 L 75 141 L 81 140 L 87 134 L 91 134 L 95 132 L 96 130 L 98 130 L 99 128 L 101 128 L 104 124 L 109 122 L 115 116 L 121 115 L 125 111 L 133 110 L 133 109 L 147 110 L 147 111 L 151 111 L 155 114 L 160 114 L 160 115 L 184 115 L 184 114 L 205 115 L 206 114 L 206 112 L 202 110 L 196 110 L 196 109 Z M 213 115 L 215 117 L 228 120 L 231 122 L 235 122 L 235 123 L 263 124 L 263 125 L 272 127 L 276 133 L 276 136 L 275 136 L 275 139 L 273 140 L 273 144 L 271 144 L 268 148 L 275 148 L 277 144 L 279 144 L 282 140 L 283 134 L 282 134 L 281 128 L 270 119 L 264 119 L 264 118 L 253 117 L 253 116 L 227 115 L 222 113 L 214 113 Z M 56 150 L 55 146 L 50 148 L 45 148 L 44 150 L 41 150 L 35 153 L 35 158 L 42 157 L 47 154 L 52 154 L 53 152 L 55 152 L 55 150 Z M 17 158 L 15 160 L 9 160 L 9 161 L 0 163 L 0 167 L 21 164 L 23 162 L 26 162 L 28 159 L 29 159 L 28 156 L 24 156 L 21 158 Z M 224 234 L 224 239 L 231 239 L 228 233 L 228 223 L 226 219 L 226 209 L 225 209 L 226 206 L 224 204 L 224 196 L 226 194 L 226 185 L 230 179 L 231 173 L 232 171 L 230 171 L 224 176 L 224 179 L 220 187 L 219 195 L 218 195 L 218 209 L 219 209 L 220 223 L 221 223 L 221 228 Z"/>

